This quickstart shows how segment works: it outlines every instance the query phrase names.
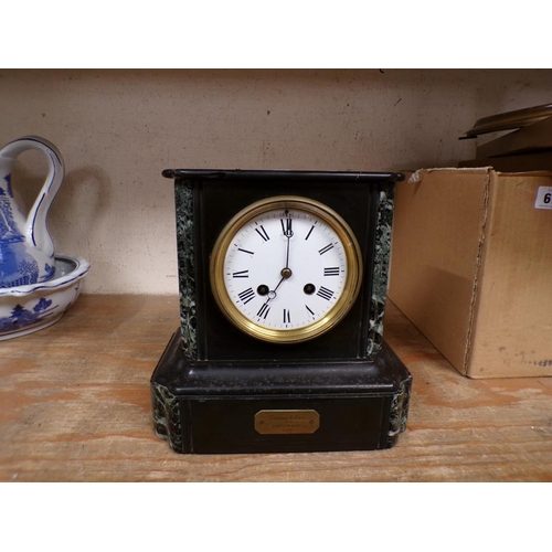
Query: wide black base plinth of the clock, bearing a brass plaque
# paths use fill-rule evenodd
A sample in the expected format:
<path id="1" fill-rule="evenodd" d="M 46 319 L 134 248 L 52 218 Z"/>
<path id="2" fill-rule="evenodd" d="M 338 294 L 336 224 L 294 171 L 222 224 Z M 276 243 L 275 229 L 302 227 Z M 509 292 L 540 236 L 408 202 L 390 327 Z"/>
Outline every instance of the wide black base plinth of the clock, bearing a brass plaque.
<path id="1" fill-rule="evenodd" d="M 184 454 L 372 450 L 406 427 L 412 376 L 373 360 L 189 360 L 176 332 L 152 376 L 156 433 Z"/>

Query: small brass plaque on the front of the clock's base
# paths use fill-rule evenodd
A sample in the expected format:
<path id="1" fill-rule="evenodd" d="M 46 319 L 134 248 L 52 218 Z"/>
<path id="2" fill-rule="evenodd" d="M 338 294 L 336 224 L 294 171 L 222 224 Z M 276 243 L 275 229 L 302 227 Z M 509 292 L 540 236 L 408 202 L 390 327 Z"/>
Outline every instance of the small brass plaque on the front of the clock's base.
<path id="1" fill-rule="evenodd" d="M 320 415 L 312 410 L 259 411 L 255 431 L 262 435 L 311 434 L 320 427 Z"/>

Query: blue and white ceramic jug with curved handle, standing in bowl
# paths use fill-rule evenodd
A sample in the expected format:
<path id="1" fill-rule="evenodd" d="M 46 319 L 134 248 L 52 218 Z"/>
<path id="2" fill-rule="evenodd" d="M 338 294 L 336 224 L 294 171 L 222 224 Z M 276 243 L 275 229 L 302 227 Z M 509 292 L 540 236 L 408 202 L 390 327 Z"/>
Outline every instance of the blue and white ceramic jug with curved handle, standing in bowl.
<path id="1" fill-rule="evenodd" d="M 15 158 L 29 149 L 44 153 L 49 173 L 25 217 L 13 198 L 11 171 Z M 64 172 L 60 151 L 43 138 L 25 136 L 0 150 L 0 288 L 39 284 L 54 275 L 54 243 L 46 216 Z"/>

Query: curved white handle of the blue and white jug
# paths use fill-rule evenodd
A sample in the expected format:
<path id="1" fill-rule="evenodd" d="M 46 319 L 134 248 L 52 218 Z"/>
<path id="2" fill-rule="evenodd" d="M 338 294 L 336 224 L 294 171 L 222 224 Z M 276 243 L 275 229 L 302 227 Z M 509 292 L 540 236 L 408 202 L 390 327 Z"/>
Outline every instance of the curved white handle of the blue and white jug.
<path id="1" fill-rule="evenodd" d="M 54 254 L 54 243 L 47 232 L 46 216 L 50 205 L 63 182 L 65 164 L 59 149 L 52 142 L 38 136 L 25 136 L 13 140 L 2 149 L 2 157 L 15 159 L 15 157 L 29 149 L 36 149 L 44 153 L 47 159 L 49 172 L 46 181 L 42 185 L 26 217 L 26 240 L 46 255 L 52 256 Z"/>

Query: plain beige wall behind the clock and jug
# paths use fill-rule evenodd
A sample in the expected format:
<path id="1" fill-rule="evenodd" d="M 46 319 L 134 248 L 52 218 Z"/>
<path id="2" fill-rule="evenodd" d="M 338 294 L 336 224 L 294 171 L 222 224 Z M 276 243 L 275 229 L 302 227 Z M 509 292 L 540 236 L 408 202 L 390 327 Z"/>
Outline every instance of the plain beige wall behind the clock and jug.
<path id="1" fill-rule="evenodd" d="M 178 291 L 166 168 L 404 170 L 475 153 L 476 119 L 551 100 L 552 71 L 0 71 L 0 142 L 39 135 L 66 178 L 49 226 L 86 293 Z M 29 205 L 45 164 L 18 162 Z"/>

